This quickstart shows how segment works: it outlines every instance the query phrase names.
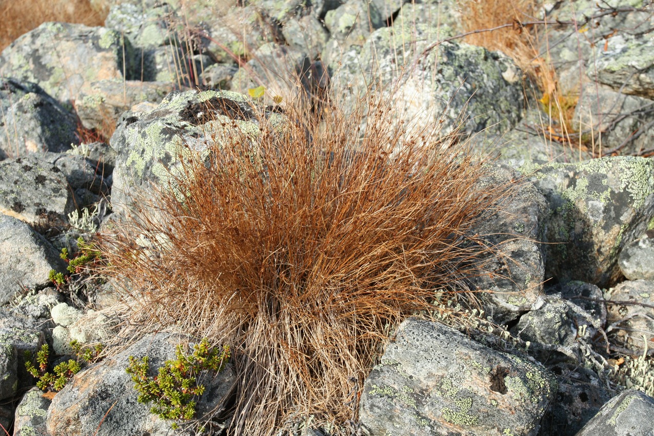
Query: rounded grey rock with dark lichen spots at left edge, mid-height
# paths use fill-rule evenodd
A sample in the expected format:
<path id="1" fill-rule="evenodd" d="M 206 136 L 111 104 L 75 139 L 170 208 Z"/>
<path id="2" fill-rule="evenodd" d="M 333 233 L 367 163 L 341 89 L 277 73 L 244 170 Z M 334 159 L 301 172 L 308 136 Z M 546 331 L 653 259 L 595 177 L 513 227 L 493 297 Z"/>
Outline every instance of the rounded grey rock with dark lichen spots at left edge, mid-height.
<path id="1" fill-rule="evenodd" d="M 75 209 L 61 170 L 39 156 L 0 162 L 0 212 L 29 224 L 65 222 Z"/>

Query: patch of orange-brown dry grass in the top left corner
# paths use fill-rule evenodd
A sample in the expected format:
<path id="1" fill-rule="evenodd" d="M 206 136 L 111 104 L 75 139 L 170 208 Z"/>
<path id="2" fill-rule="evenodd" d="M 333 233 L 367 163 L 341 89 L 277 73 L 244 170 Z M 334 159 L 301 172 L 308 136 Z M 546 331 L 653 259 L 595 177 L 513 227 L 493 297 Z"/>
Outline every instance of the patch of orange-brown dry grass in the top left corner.
<path id="1" fill-rule="evenodd" d="M 0 50 L 45 22 L 104 25 L 109 8 L 91 7 L 88 0 L 0 0 Z"/>

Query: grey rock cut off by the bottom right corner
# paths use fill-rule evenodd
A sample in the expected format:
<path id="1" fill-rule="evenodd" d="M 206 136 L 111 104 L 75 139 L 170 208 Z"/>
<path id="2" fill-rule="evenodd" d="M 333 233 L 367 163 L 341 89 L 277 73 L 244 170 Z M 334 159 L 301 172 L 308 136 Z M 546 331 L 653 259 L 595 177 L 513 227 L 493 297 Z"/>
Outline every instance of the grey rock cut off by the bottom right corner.
<path id="1" fill-rule="evenodd" d="M 654 398 L 635 390 L 613 397 L 576 436 L 651 436 Z"/>

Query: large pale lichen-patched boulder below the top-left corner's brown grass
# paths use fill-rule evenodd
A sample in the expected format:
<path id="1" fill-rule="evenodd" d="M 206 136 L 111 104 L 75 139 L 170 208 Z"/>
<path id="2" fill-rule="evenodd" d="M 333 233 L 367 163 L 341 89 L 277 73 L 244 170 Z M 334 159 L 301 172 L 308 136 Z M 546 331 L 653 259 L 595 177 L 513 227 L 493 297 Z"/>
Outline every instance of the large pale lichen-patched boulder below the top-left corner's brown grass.
<path id="1" fill-rule="evenodd" d="M 44 23 L 5 48 L 0 73 L 35 82 L 59 101 L 76 103 L 93 93 L 98 80 L 131 79 L 133 60 L 129 41 L 118 31 Z"/>

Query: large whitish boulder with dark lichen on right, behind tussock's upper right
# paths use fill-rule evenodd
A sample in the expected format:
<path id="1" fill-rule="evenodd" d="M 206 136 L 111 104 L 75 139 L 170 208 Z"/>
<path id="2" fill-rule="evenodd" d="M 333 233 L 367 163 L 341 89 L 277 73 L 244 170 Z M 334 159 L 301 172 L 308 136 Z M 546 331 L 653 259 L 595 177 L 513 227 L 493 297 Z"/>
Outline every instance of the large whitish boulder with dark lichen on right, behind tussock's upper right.
<path id="1" fill-rule="evenodd" d="M 515 126 L 522 112 L 520 69 L 500 52 L 463 42 L 430 48 L 439 33 L 436 27 L 409 22 L 383 27 L 370 35 L 358 56 L 328 59 L 337 72 L 334 89 L 351 93 L 335 96 L 336 101 L 353 104 L 371 88 L 381 88 L 397 107 L 398 122 L 404 121 L 407 131 L 434 122 L 443 134 L 460 122 L 467 133 L 483 129 L 504 133 Z"/>

